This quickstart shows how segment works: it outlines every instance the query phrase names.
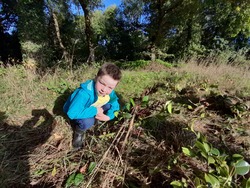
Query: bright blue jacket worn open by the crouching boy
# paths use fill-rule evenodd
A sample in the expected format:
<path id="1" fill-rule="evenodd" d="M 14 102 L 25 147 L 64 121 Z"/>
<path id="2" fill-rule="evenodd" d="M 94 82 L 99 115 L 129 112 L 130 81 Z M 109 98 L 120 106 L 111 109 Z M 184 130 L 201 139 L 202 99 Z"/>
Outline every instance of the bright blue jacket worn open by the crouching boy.
<path id="1" fill-rule="evenodd" d="M 111 104 L 111 108 L 107 111 L 106 115 L 111 119 L 114 119 L 114 112 L 120 109 L 118 103 L 118 97 L 114 91 L 110 93 L 110 100 L 108 104 Z M 63 111 L 68 115 L 70 119 L 84 119 L 96 116 L 97 108 L 91 106 L 97 100 L 95 92 L 94 80 L 87 80 L 80 84 L 68 98 L 63 106 Z"/>

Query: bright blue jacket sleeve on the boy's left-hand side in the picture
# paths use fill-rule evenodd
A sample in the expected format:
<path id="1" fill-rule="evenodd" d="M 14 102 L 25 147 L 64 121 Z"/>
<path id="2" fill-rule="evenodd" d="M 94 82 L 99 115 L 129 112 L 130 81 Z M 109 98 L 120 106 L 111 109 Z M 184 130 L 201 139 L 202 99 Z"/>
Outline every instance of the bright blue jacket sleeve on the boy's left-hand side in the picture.
<path id="1" fill-rule="evenodd" d="M 91 118 L 97 114 L 97 108 L 91 106 L 90 96 L 84 90 L 80 89 L 70 99 L 67 115 L 70 119 Z"/>

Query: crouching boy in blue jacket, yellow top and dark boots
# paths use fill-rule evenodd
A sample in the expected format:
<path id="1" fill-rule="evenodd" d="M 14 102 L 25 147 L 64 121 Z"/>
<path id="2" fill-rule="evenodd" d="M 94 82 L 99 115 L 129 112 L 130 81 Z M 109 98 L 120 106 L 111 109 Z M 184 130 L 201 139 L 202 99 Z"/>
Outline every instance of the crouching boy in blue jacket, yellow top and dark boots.
<path id="1" fill-rule="evenodd" d="M 109 121 L 120 109 L 115 87 L 121 79 L 120 69 L 112 64 L 104 64 L 94 80 L 81 83 L 64 104 L 63 111 L 74 126 L 72 145 L 76 149 L 83 146 L 83 133 L 92 127 L 95 120 Z"/>

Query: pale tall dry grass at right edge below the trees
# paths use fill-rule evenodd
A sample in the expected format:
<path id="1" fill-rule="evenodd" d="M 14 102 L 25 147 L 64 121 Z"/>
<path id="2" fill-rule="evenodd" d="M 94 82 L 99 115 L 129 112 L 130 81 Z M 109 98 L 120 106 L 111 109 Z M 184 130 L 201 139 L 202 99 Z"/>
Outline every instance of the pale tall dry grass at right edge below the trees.
<path id="1" fill-rule="evenodd" d="M 180 66 L 178 71 L 191 74 L 191 79 L 198 76 L 209 83 L 218 84 L 219 90 L 230 94 L 242 96 L 250 94 L 250 71 L 243 66 L 232 66 L 225 63 L 208 65 L 205 61 L 191 60 Z"/>

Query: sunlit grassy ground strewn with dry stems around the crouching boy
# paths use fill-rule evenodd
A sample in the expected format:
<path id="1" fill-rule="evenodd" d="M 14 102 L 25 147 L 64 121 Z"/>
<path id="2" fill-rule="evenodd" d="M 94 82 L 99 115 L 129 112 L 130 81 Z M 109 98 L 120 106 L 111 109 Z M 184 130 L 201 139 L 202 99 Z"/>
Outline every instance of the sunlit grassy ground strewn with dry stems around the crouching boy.
<path id="1" fill-rule="evenodd" d="M 191 124 L 219 149 L 250 159 L 249 109 L 236 108 L 249 107 L 250 73 L 193 62 L 123 69 L 116 91 L 122 105 L 134 99 L 136 112 L 123 110 L 115 121 L 90 129 L 85 148 L 73 151 L 62 105 L 97 69 L 39 75 L 23 66 L 0 68 L 1 187 L 166 187 L 186 177 L 179 162 L 185 162 L 181 148 L 195 140 L 183 129 Z"/>

